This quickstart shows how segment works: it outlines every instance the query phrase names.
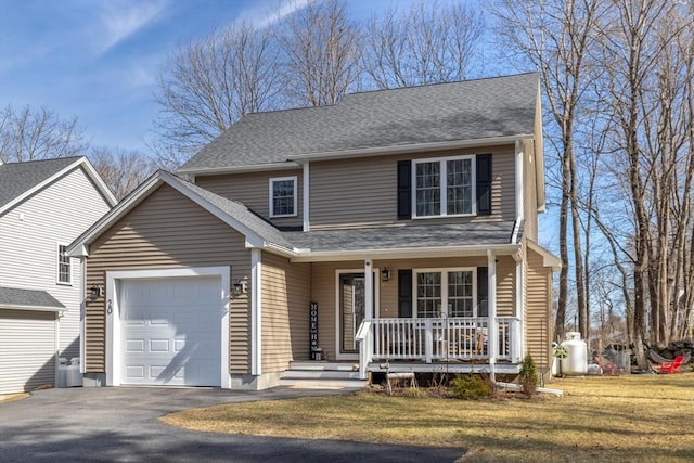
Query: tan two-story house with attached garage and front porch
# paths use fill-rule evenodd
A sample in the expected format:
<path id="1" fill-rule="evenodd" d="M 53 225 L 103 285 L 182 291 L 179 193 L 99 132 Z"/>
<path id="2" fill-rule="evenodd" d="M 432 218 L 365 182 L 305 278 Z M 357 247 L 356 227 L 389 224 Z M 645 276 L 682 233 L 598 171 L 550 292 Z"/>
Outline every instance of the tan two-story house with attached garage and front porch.
<path id="1" fill-rule="evenodd" d="M 537 74 L 250 114 L 178 175 L 70 246 L 104 288 L 87 382 L 265 388 L 317 359 L 493 376 L 526 353 L 549 370 Z"/>

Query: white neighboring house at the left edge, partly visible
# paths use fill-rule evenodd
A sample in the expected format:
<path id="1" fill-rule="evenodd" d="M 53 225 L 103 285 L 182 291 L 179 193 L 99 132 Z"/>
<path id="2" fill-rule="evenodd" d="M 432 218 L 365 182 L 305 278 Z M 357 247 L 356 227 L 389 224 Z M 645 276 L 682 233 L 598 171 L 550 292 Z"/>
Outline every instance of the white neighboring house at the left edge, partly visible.
<path id="1" fill-rule="evenodd" d="M 55 385 L 80 357 L 79 259 L 65 246 L 116 204 L 86 157 L 0 162 L 0 394 Z"/>

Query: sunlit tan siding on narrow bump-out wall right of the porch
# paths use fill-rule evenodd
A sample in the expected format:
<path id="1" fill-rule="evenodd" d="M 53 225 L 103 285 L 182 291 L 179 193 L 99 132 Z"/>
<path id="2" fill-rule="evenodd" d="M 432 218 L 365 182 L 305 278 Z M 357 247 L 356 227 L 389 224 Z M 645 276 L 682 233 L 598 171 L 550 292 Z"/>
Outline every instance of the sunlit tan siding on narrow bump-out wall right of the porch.
<path id="1" fill-rule="evenodd" d="M 542 256 L 526 249 L 526 352 L 545 371 L 551 360 L 552 270 L 543 266 Z"/>

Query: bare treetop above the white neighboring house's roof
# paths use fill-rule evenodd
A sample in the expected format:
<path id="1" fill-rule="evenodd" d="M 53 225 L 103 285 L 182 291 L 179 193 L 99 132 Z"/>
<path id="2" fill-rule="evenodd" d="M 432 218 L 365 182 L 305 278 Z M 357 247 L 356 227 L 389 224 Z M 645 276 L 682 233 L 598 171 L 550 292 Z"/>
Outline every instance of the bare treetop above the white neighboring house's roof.
<path id="1" fill-rule="evenodd" d="M 0 110 L 0 159 L 24 162 L 78 156 L 87 143 L 77 117 L 61 119 L 52 111 L 29 105 Z"/>

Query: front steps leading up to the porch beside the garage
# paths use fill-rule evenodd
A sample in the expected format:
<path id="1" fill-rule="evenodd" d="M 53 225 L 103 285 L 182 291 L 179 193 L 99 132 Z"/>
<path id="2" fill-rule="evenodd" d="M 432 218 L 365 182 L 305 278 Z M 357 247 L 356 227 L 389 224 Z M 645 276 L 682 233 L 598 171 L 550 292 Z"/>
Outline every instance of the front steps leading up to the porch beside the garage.
<path id="1" fill-rule="evenodd" d="M 284 372 L 281 386 L 310 388 L 363 388 L 367 381 L 359 380 L 354 363 L 292 362 Z"/>

